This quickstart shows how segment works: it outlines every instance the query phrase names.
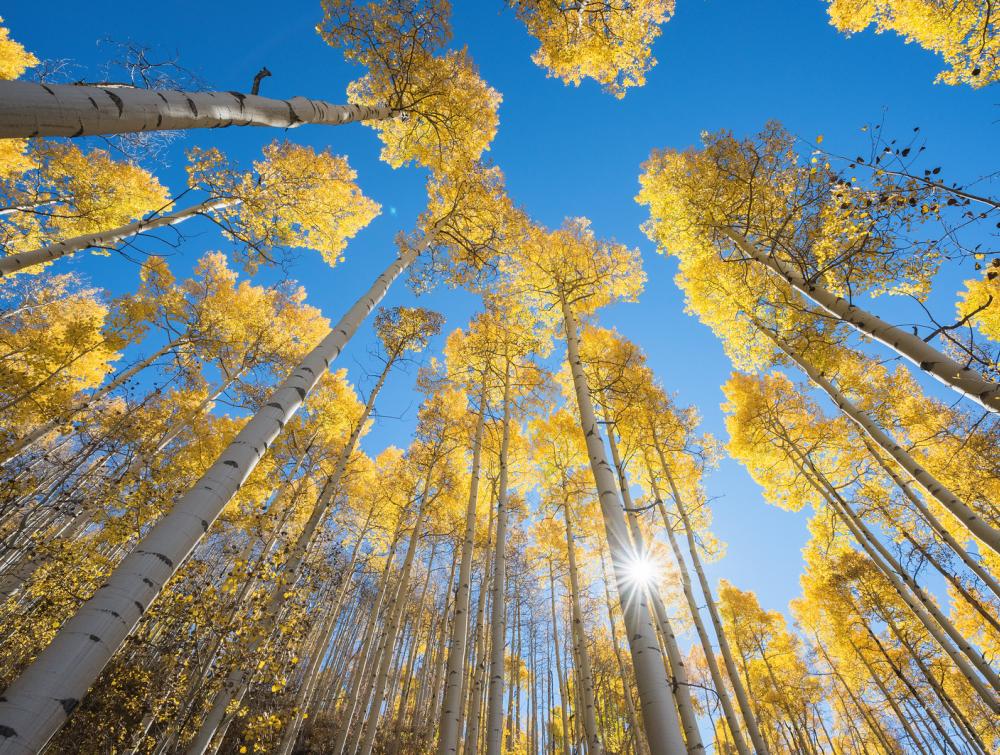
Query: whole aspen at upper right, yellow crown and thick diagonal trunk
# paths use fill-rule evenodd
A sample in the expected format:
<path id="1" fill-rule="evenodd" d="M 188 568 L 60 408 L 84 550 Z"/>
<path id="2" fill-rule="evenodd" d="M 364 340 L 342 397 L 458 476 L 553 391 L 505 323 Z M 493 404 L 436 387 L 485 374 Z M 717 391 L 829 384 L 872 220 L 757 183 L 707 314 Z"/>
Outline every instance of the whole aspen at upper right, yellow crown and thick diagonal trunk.
<path id="1" fill-rule="evenodd" d="M 758 297 L 773 290 L 766 280 L 773 276 L 825 316 L 878 340 L 983 408 L 1000 410 L 995 381 L 844 298 L 863 291 L 926 295 L 938 257 L 928 244 L 903 240 L 935 216 L 925 210 L 937 206 L 933 186 L 893 196 L 855 191 L 849 183 L 842 188 L 828 169 L 803 165 L 793 138 L 777 124 L 756 139 L 706 136 L 700 152 L 654 152 L 640 181 L 637 199 L 650 208 L 646 233 L 680 259 L 682 276 L 692 282 L 689 301 L 693 291 L 700 298 L 711 290 L 709 268 L 723 273 L 720 281 L 738 280 L 736 269 L 723 270 L 735 266 L 719 263 L 747 263 L 764 276 L 748 272 L 740 285 Z M 803 222 L 787 222 L 796 213 Z M 780 291 L 772 301 L 801 308 Z"/>

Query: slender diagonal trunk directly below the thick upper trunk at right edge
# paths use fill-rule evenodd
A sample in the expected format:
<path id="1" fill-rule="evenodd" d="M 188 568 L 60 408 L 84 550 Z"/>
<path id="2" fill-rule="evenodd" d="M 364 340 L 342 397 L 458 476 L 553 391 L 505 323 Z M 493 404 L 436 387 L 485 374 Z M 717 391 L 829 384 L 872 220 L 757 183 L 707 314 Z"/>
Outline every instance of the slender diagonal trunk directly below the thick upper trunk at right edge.
<path id="1" fill-rule="evenodd" d="M 801 357 L 784 339 L 765 330 L 779 349 L 795 362 L 809 379 L 826 393 L 840 410 L 860 427 L 871 440 L 891 456 L 897 464 L 917 483 L 930 493 L 938 503 L 950 511 L 969 532 L 978 537 L 986 546 L 1000 554 L 1000 530 L 985 522 L 968 504 L 941 484 L 930 472 L 924 469 L 902 446 L 896 443 L 889 434 L 863 412 L 853 401 L 848 399 L 826 377 L 815 369 L 806 359 Z"/>

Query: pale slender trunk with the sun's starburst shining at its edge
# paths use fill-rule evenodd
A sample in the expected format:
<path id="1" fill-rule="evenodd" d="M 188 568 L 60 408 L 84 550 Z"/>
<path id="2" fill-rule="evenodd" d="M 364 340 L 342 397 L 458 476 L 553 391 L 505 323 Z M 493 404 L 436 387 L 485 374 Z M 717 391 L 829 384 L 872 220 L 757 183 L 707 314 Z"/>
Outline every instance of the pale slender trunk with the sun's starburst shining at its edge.
<path id="1" fill-rule="evenodd" d="M 580 412 L 580 428 L 587 443 L 590 467 L 597 486 L 608 549 L 611 553 L 611 567 L 618 588 L 618 600 L 625 617 L 646 739 L 653 755 L 676 755 L 683 752 L 685 747 L 674 710 L 670 682 L 667 680 L 663 656 L 656 639 L 656 630 L 653 627 L 646 597 L 643 591 L 631 587 L 625 573 L 626 565 L 635 557 L 635 552 L 622 513 L 615 475 L 608 463 L 604 440 L 597 425 L 597 417 L 594 415 L 594 404 L 583 371 L 583 362 L 580 359 L 580 334 L 576 315 L 566 297 L 561 296 L 560 299 L 567 361 L 573 375 Z"/>

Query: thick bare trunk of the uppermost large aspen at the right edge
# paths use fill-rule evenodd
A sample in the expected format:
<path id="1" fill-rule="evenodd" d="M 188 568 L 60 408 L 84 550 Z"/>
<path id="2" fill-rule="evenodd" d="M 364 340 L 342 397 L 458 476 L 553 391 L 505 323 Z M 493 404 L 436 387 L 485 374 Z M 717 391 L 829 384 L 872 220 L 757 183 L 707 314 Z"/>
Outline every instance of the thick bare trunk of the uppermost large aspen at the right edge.
<path id="1" fill-rule="evenodd" d="M 1000 412 L 1000 385 L 997 383 L 987 380 L 975 370 L 963 367 L 919 336 L 890 325 L 870 312 L 866 312 L 844 298 L 827 291 L 819 284 L 807 281 L 793 267 L 779 260 L 773 254 L 765 254 L 745 236 L 732 229 L 723 228 L 721 230 L 739 247 L 740 251 L 777 274 L 792 288 L 816 302 L 831 316 L 885 344 L 896 353 L 909 359 L 921 370 L 929 372 L 945 385 L 971 398 L 984 409 Z"/>

